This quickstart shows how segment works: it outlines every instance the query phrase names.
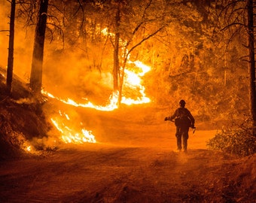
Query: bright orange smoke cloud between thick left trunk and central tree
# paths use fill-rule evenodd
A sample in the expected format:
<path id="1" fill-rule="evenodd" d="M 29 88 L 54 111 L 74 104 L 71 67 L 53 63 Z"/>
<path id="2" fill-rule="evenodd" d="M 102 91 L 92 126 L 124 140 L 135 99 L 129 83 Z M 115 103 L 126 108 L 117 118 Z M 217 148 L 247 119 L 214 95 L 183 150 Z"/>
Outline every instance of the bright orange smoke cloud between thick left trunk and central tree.
<path id="1" fill-rule="evenodd" d="M 52 53 L 52 54 L 50 54 Z M 93 64 L 79 49 L 46 50 L 43 86 L 48 92 L 62 98 L 89 99 L 104 105 L 112 92 L 112 75 L 104 67 Z"/>

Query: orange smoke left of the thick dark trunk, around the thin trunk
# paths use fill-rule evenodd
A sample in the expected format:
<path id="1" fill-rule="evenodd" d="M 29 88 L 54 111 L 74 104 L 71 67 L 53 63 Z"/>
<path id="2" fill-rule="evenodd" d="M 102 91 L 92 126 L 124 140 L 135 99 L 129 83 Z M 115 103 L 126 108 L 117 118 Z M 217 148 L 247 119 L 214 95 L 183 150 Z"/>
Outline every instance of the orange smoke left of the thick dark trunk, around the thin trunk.
<path id="1" fill-rule="evenodd" d="M 0 30 L 7 32 L 0 32 L 0 66 L 6 68 L 8 65 L 8 42 L 9 42 L 9 22 L 11 14 L 11 3 L 2 1 L 0 3 Z M 33 29 L 30 26 L 25 28 L 23 19 L 15 20 L 14 28 L 14 74 L 17 74 L 23 80 L 29 79 L 31 61 L 32 61 L 32 46 L 33 46 Z"/>

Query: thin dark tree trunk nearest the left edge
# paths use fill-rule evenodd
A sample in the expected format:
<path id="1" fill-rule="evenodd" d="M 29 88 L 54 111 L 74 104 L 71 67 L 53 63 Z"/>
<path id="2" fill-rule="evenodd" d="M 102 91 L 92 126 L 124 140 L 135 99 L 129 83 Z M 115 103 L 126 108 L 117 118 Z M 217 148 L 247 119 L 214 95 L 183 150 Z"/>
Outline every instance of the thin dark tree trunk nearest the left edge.
<path id="1" fill-rule="evenodd" d="M 7 91 L 11 95 L 11 83 L 13 80 L 14 70 L 14 20 L 15 20 L 15 5 L 16 1 L 11 1 L 11 20 L 10 20 L 10 36 L 9 36 L 9 50 L 8 50 L 8 68 L 7 68 Z"/>

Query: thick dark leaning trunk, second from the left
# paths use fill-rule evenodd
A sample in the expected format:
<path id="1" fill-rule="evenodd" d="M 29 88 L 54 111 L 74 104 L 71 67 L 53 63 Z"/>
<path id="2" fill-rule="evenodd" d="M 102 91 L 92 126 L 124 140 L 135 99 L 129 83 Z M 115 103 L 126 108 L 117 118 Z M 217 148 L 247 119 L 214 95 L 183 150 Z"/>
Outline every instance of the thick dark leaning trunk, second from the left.
<path id="1" fill-rule="evenodd" d="M 43 59 L 44 59 L 44 38 L 47 22 L 48 0 L 40 0 L 38 23 L 35 29 L 35 41 L 32 56 L 32 68 L 30 74 L 30 87 L 35 96 L 41 94 Z"/>

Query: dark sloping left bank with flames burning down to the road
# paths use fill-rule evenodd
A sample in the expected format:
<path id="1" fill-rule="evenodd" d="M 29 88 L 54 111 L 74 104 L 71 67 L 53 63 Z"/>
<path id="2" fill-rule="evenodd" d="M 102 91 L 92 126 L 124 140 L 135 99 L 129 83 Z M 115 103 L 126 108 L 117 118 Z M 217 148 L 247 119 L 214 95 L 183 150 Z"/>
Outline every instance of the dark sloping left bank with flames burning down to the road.
<path id="1" fill-rule="evenodd" d="M 55 106 L 46 100 L 38 104 L 33 101 L 29 88 L 17 78 L 14 80 L 9 97 L 5 94 L 5 77 L 1 75 L 0 159 L 56 150 L 65 143 L 96 142 L 83 123 L 70 120 L 73 114 L 53 109 Z"/>

